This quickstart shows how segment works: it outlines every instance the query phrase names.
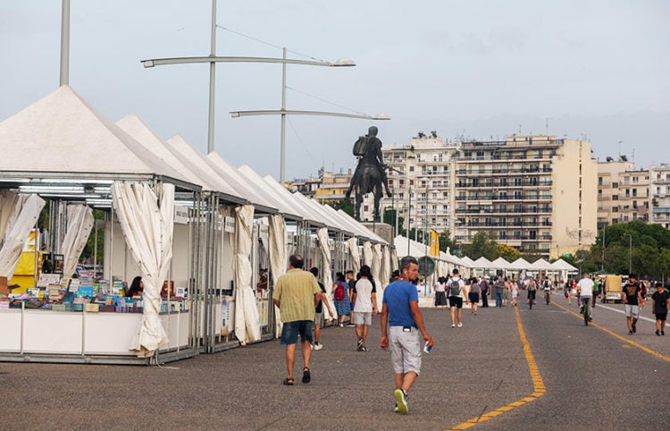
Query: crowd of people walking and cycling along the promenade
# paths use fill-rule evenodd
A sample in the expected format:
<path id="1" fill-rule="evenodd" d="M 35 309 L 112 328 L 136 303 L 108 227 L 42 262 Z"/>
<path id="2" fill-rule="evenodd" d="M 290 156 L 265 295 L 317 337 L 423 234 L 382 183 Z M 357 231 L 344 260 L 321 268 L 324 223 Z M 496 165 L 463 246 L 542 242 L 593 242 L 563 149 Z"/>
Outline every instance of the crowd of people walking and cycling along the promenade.
<path id="1" fill-rule="evenodd" d="M 283 322 L 281 344 L 286 346 L 287 377 L 283 380 L 283 385 L 294 385 L 293 368 L 298 337 L 303 356 L 302 382 L 308 384 L 311 381 L 312 351 L 322 349 L 323 308 L 327 308 L 331 316 L 334 316 L 326 287 L 318 281 L 318 269 L 314 267 L 310 271 L 303 271 L 303 265 L 303 258 L 299 255 L 291 256 L 289 271 L 279 278 L 272 295 L 274 304 L 281 311 Z M 403 258 L 400 269 L 392 275 L 381 300 L 379 345 L 390 352 L 395 383 L 394 411 L 401 414 L 406 414 L 409 410 L 408 393 L 421 371 L 421 352 L 430 351 L 435 343 L 423 324 L 423 315 L 419 308 L 419 292 L 416 286 L 418 273 L 417 260 L 411 257 Z M 646 283 L 636 280 L 635 275 L 629 275 L 621 291 L 629 334 L 637 332 L 636 324 L 641 309 L 649 297 L 651 311 L 656 317 L 656 334 L 665 335 L 670 292 L 664 289 L 662 283 L 655 283 L 654 292 L 651 293 Z M 592 320 L 591 307 L 595 307 L 596 298 L 602 293 L 602 287 L 602 283 L 586 273 L 579 282 L 565 282 L 565 300 L 571 303 L 572 298 L 576 298 L 584 314 L 584 325 L 589 325 Z M 489 297 L 495 300 L 497 308 L 507 307 L 508 304 L 518 307 L 518 298 L 522 292 L 525 292 L 526 301 L 530 302 L 535 300 L 537 292 L 541 291 L 549 304 L 551 293 L 556 292 L 556 283 L 551 283 L 544 274 L 538 279 L 529 276 L 523 281 L 503 275 L 464 279 L 455 268 L 449 277 L 439 277 L 433 288 L 434 307 L 448 307 L 451 327 L 462 328 L 464 303 L 470 305 L 471 314 L 474 316 L 477 314 L 480 301 L 482 308 L 489 307 Z M 378 312 L 377 283 L 373 279 L 370 267 L 361 266 L 356 275 L 353 271 L 337 273 L 331 286 L 331 294 L 338 316 L 337 325 L 353 326 L 356 334 L 356 351 L 368 351 L 369 326 L 372 325 L 373 316 Z"/>

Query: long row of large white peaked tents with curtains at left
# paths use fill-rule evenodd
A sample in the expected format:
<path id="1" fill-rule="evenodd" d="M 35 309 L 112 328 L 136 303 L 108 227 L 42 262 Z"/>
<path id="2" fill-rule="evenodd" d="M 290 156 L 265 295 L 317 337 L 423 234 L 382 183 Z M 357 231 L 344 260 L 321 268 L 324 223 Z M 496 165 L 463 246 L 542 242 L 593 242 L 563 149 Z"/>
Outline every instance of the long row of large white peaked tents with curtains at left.
<path id="1" fill-rule="evenodd" d="M 52 251 L 72 255 L 75 264 L 93 226 L 91 208 L 105 208 L 105 279 L 141 275 L 145 283 L 142 323 L 130 342 L 138 356 L 172 345 L 173 335 L 168 340 L 164 328 L 172 324 L 159 316 L 164 280 L 188 286 L 190 299 L 202 301 L 191 304 L 188 334 L 177 331 L 176 338 L 187 340 L 191 351 L 209 352 L 230 334 L 243 344 L 258 341 L 262 323 L 267 335 L 276 335 L 273 323 L 279 318 L 267 298 L 261 307 L 255 278 L 259 268 L 268 267 L 270 284 L 275 283 L 289 254 L 300 253 L 307 265 L 319 266 L 326 286 L 334 272 L 357 271 L 360 262 L 382 281 L 397 267 L 393 247 L 345 212 L 291 193 L 247 165 L 236 168 L 215 152 L 205 156 L 180 135 L 162 139 L 136 114 L 113 123 L 69 86 L 0 122 L 0 148 L 0 190 L 8 197 L 0 201 L 0 258 L 4 251 L 11 255 L 0 275 L 12 277 L 43 199 L 52 200 L 51 220 L 63 220 L 62 226 L 51 226 Z M 20 205 L 14 199 L 20 195 L 34 196 L 39 205 Z M 179 208 L 185 211 L 181 216 Z M 5 218 L 11 220 L 5 224 Z M 12 244 L 6 241 L 10 232 Z M 71 240 L 63 241 L 68 235 Z M 230 310 L 227 287 L 233 292 Z M 234 322 L 230 328 L 222 323 L 226 317 Z M 24 320 L 17 317 L 21 327 L 13 328 L 21 337 L 29 336 Z M 52 338 L 67 344 L 57 328 L 42 325 L 39 342 Z M 21 354 L 29 354 L 30 342 L 16 340 Z M 66 351 L 84 356 L 96 341 L 82 339 L 80 350 Z M 182 344 L 172 345 L 172 351 L 188 350 Z M 49 349 L 61 347 L 52 343 Z M 0 350 L 12 348 L 0 345 Z"/>

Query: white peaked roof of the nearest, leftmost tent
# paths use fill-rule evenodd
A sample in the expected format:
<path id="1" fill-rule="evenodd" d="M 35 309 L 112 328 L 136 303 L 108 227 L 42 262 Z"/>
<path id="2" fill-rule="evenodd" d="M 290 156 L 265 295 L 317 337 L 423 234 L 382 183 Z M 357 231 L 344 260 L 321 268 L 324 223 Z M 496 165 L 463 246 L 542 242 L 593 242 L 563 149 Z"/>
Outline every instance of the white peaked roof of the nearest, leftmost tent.
<path id="1" fill-rule="evenodd" d="M 0 145 L 4 172 L 57 178 L 162 176 L 199 189 L 67 85 L 0 123 Z"/>

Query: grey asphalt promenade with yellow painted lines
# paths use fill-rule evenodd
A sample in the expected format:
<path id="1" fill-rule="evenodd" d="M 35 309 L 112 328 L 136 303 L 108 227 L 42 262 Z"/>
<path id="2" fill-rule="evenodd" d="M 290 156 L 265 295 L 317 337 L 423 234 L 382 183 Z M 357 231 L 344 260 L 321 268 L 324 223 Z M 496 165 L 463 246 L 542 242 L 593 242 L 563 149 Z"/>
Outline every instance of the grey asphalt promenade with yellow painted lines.
<path id="1" fill-rule="evenodd" d="M 278 341 L 162 367 L 0 363 L 0 429 L 670 429 L 670 331 L 641 320 L 628 335 L 620 304 L 598 304 L 584 326 L 574 301 L 556 299 L 464 308 L 454 329 L 448 310 L 422 308 L 437 343 L 406 416 L 392 411 L 374 317 L 366 352 L 354 328 L 323 329 L 308 385 L 299 352 L 296 384 L 281 385 Z"/>

